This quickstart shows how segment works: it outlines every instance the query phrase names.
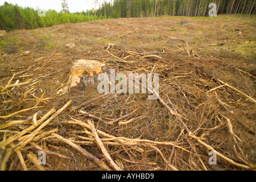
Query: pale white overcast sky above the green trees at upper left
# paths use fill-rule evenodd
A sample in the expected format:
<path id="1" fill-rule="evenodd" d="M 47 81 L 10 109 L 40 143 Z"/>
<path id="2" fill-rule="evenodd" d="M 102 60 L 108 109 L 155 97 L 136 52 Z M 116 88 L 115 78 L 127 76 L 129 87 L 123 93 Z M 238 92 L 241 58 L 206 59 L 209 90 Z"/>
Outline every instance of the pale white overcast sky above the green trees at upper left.
<path id="1" fill-rule="evenodd" d="M 61 11 L 61 0 L 0 0 L 0 5 L 8 2 L 13 5 L 17 4 L 22 7 L 39 7 L 42 10 L 56 10 Z M 106 0 L 109 2 L 110 0 Z M 103 0 L 99 0 L 102 5 Z M 68 7 L 71 13 L 75 13 L 76 11 L 82 11 L 86 9 L 92 9 L 94 7 L 94 0 L 68 0 Z"/>

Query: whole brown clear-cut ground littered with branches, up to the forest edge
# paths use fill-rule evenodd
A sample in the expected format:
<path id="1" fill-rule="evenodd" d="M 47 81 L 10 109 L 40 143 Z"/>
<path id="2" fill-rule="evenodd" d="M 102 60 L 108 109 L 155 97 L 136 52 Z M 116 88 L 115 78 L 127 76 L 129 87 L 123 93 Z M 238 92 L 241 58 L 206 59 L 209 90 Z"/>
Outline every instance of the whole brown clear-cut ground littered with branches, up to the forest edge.
<path id="1" fill-rule="evenodd" d="M 255 18 L 222 15 L 106 19 L 0 36 L 1 169 L 255 169 L 255 30 Z M 118 73 L 159 73 L 160 98 L 93 88 L 59 96 L 78 59 Z M 38 164 L 39 151 L 46 164 Z"/>

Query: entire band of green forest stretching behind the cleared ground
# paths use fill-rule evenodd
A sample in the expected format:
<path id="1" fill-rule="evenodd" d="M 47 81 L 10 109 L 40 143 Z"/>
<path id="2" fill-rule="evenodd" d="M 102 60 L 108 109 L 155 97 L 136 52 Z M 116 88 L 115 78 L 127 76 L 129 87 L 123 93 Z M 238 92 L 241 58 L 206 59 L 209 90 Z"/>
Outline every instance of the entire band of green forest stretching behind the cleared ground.
<path id="1" fill-rule="evenodd" d="M 95 11 L 69 13 L 68 3 L 64 10 L 46 11 L 40 16 L 39 9 L 20 7 L 5 2 L 0 6 L 0 30 L 51 27 L 63 23 L 81 23 L 95 19 L 136 18 L 153 16 L 208 16 L 209 3 L 216 3 L 217 14 L 256 13 L 256 0 L 114 0 L 102 3 Z M 94 1 L 96 3 L 97 1 Z M 85 7 L 86 9 L 86 7 Z"/>

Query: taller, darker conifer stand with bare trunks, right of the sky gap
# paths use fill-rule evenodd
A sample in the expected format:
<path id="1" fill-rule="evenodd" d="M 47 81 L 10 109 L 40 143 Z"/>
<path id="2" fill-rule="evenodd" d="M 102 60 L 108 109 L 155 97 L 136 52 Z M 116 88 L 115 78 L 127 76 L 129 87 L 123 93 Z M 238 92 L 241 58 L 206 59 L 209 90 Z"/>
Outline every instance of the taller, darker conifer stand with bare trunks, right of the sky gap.
<path id="1" fill-rule="evenodd" d="M 103 3 L 97 15 L 112 18 L 149 16 L 208 16 L 209 4 L 216 3 L 217 14 L 255 14 L 255 0 L 114 0 Z"/>

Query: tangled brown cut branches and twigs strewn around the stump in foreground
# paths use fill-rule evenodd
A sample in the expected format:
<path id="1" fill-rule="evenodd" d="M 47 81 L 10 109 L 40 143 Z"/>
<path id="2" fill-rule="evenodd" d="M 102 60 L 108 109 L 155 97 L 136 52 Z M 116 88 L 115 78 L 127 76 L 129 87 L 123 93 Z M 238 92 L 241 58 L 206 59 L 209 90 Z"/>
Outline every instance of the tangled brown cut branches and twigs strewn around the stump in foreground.
<path id="1" fill-rule="evenodd" d="M 158 100 L 93 89 L 59 97 L 56 90 L 68 79 L 48 68 L 60 54 L 34 61 L 27 72 L 13 71 L 1 87 L 1 170 L 255 169 L 254 155 L 249 155 L 255 146 L 246 143 L 255 135 L 256 101 L 249 96 L 255 92 L 250 86 L 255 77 L 239 63 L 179 50 L 185 55 L 171 49 L 115 48 L 85 55 L 118 73 L 159 73 L 160 92 L 150 88 Z M 62 74 L 70 71 L 70 62 L 65 64 Z M 11 84 L 17 75 L 31 79 Z M 7 106 L 10 97 L 18 107 Z M 39 164 L 40 151 L 46 153 L 45 165 Z M 209 164 L 210 151 L 217 155 L 216 165 Z"/>

